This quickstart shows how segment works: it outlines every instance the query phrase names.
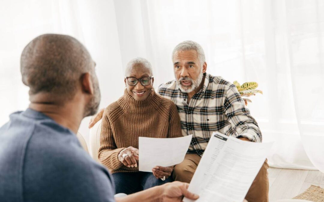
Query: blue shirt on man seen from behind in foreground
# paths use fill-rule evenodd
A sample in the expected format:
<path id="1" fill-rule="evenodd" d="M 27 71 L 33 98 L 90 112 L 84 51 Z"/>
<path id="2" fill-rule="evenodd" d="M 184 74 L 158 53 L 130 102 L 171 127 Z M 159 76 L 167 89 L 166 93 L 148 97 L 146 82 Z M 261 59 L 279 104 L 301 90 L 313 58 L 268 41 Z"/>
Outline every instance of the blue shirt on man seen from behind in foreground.
<path id="1" fill-rule="evenodd" d="M 112 177 L 76 135 L 41 112 L 0 128 L 0 201 L 114 201 Z"/>

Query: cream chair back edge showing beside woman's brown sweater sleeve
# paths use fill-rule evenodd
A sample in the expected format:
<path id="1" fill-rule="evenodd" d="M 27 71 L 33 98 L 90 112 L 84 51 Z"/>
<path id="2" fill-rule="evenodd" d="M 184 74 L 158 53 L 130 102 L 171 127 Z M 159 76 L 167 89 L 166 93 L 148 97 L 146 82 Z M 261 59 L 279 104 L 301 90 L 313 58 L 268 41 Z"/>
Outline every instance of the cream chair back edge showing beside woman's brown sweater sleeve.
<path id="1" fill-rule="evenodd" d="M 90 155 L 100 163 L 98 159 L 98 151 L 100 147 L 100 133 L 101 133 L 101 120 L 98 121 L 92 128 L 90 128 Z"/>

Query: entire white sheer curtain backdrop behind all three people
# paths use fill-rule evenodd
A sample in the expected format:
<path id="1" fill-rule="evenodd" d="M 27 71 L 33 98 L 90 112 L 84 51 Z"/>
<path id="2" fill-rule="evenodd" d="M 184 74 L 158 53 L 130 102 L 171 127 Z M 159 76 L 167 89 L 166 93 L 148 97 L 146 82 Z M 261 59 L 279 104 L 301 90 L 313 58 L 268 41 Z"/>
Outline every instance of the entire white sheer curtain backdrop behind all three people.
<path id="1" fill-rule="evenodd" d="M 97 63 L 101 107 L 123 92 L 123 70 L 149 59 L 155 84 L 174 79 L 171 52 L 200 43 L 207 72 L 229 81 L 257 81 L 263 95 L 249 109 L 264 141 L 275 141 L 269 163 L 323 171 L 323 0 L 29 0 L 0 3 L 0 124 L 28 106 L 19 57 L 43 33 L 78 38 Z M 87 139 L 85 119 L 80 132 Z"/>

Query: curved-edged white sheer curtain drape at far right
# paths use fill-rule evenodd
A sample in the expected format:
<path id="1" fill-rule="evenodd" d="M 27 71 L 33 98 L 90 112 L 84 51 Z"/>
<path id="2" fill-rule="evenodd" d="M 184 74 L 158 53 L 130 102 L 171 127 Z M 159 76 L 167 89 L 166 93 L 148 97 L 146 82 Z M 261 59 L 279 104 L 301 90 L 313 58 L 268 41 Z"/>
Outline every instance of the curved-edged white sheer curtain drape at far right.
<path id="1" fill-rule="evenodd" d="M 324 1 L 290 3 L 287 43 L 298 128 L 309 159 L 324 173 Z"/>

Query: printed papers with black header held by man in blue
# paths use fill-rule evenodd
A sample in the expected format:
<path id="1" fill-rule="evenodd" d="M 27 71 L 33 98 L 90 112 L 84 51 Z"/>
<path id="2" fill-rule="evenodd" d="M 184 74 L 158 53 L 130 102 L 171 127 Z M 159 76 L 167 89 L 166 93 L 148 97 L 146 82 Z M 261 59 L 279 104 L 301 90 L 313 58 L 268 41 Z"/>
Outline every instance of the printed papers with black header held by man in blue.
<path id="1" fill-rule="evenodd" d="M 196 202 L 242 202 L 272 144 L 213 133 L 188 190 L 200 196 Z"/>

